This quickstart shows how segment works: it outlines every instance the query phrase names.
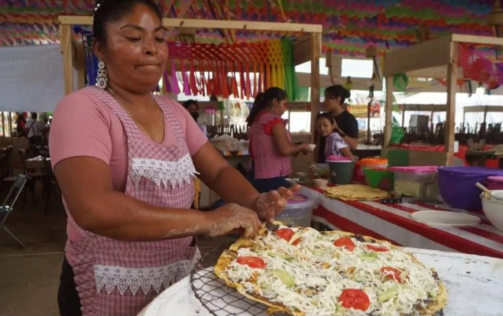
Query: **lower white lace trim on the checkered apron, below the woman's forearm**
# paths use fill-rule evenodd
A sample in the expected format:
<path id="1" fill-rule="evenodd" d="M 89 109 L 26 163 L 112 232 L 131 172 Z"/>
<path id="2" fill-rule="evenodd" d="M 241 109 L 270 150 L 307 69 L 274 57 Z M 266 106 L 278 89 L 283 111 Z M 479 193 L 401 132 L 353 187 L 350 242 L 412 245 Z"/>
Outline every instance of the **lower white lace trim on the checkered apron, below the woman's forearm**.
<path id="1" fill-rule="evenodd" d="M 109 265 L 94 265 L 94 279 L 96 291 L 99 293 L 103 287 L 107 294 L 117 288 L 121 295 L 127 289 L 133 295 L 141 289 L 145 295 L 151 288 L 157 294 L 170 285 L 188 276 L 199 260 L 199 252 L 191 260 L 181 260 L 175 263 L 150 268 L 124 268 Z"/>

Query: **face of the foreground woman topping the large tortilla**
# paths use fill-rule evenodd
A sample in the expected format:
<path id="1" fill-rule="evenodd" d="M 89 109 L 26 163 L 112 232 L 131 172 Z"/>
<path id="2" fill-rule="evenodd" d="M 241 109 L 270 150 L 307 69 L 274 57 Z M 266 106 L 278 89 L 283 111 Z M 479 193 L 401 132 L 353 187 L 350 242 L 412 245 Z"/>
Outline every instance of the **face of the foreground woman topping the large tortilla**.
<path id="1" fill-rule="evenodd" d="M 106 25 L 106 43 L 97 42 L 96 56 L 105 62 L 109 81 L 132 92 L 152 91 L 168 59 L 165 29 L 143 4 Z"/>

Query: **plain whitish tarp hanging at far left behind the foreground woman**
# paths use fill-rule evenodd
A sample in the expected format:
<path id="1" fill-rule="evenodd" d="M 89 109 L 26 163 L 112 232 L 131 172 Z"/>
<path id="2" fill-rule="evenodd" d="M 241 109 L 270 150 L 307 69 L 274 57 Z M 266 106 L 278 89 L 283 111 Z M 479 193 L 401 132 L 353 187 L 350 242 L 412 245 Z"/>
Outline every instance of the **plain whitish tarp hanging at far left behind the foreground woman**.
<path id="1" fill-rule="evenodd" d="M 0 47 L 0 111 L 50 112 L 64 96 L 59 45 Z"/>

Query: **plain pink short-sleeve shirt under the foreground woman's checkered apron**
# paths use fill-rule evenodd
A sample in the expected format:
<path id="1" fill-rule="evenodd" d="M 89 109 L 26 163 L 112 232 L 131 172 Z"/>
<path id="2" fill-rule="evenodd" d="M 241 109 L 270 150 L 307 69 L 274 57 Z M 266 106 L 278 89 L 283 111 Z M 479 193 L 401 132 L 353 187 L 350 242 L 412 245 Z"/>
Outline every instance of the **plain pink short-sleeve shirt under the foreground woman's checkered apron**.
<path id="1" fill-rule="evenodd" d="M 185 130 L 189 153 L 194 156 L 208 141 L 206 135 L 178 102 L 169 98 L 164 101 Z M 163 145 L 175 143 L 172 127 L 165 124 Z M 124 192 L 128 166 L 126 131 L 117 115 L 91 91 L 76 91 L 59 102 L 51 124 L 49 148 L 53 168 L 61 160 L 78 156 L 104 161 L 112 171 L 114 190 Z"/>

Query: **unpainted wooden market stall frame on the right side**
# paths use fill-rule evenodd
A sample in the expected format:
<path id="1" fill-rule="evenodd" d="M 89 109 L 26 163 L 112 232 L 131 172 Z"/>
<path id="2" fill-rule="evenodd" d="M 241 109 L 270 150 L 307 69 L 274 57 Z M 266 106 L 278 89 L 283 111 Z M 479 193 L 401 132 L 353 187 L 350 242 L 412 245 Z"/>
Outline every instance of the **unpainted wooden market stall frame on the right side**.
<path id="1" fill-rule="evenodd" d="M 503 39 L 451 34 L 450 36 L 440 37 L 414 46 L 395 50 L 385 55 L 383 76 L 386 78 L 386 119 L 382 156 L 386 156 L 387 152 L 392 150 L 389 144 L 391 140 L 392 127 L 393 76 L 416 69 L 440 69 L 446 74 L 447 78 L 447 120 L 444 131 L 445 150 L 444 152 L 436 153 L 435 155 L 432 155 L 432 153 L 417 152 L 416 156 L 419 156 L 420 158 L 418 160 L 424 161 L 425 164 L 453 164 L 455 135 L 454 117 L 456 110 L 455 94 L 458 88 L 458 80 L 463 79 L 464 77 L 472 78 L 474 76 L 478 76 L 474 73 L 468 74 L 468 71 L 466 71 L 469 67 L 469 59 L 473 53 L 468 52 L 461 44 L 499 46 L 503 44 Z M 435 52 L 435 54 L 431 54 L 431 52 Z M 462 52 L 462 54 L 460 54 L 460 52 Z M 428 56 L 428 58 L 424 58 L 423 56 Z M 482 60 L 482 58 L 479 58 L 479 60 Z M 473 64 L 475 65 L 475 62 Z M 492 67 L 492 63 L 489 62 L 489 64 Z M 472 71 L 474 68 L 475 67 L 472 67 Z M 481 66 L 477 69 L 480 73 L 485 70 L 485 66 Z M 487 77 L 488 78 L 485 78 L 485 81 L 490 80 L 489 76 Z"/>

